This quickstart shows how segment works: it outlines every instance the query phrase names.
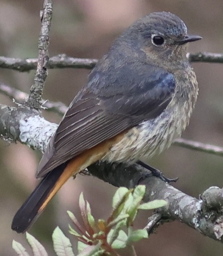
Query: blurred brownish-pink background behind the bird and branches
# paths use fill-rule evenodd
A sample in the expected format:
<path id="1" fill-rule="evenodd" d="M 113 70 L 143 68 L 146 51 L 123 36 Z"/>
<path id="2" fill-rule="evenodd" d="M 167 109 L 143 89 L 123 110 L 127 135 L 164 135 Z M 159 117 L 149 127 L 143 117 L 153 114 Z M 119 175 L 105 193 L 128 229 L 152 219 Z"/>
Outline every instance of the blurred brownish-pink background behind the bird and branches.
<path id="1" fill-rule="evenodd" d="M 0 55 L 37 57 L 40 30 L 39 11 L 43 0 L 0 0 Z M 223 51 L 223 1 L 215 0 L 54 0 L 50 32 L 50 55 L 99 58 L 111 42 L 133 21 L 153 11 L 170 11 L 185 21 L 189 33 L 199 34 L 201 41 L 189 44 L 189 52 Z M 200 90 L 189 127 L 183 138 L 223 145 L 223 64 L 193 63 Z M 44 98 L 69 104 L 87 81 L 88 70 L 49 70 Z M 0 69 L 0 81 L 28 93 L 34 71 L 19 73 Z M 13 106 L 0 95 L 1 104 Z M 60 116 L 44 112 L 46 119 L 58 123 Z M 41 153 L 21 144 L 0 140 L 0 255 L 16 255 L 12 240 L 28 248 L 25 235 L 11 231 L 17 209 L 37 184 L 35 170 Z M 172 146 L 152 159 L 151 165 L 167 177 L 179 177 L 175 187 L 198 197 L 209 186 L 223 186 L 223 158 Z M 106 218 L 116 188 L 94 177 L 78 175 L 70 179 L 44 213 L 29 229 L 54 255 L 51 234 L 58 225 L 69 236 L 66 211 L 80 217 L 78 197 L 83 191 L 96 218 Z M 140 213 L 136 227 L 144 227 L 148 212 Z M 72 236 L 72 243 L 75 241 Z M 149 240 L 136 245 L 138 255 L 207 256 L 222 255 L 222 245 L 180 222 L 158 228 Z M 124 254 L 123 254 L 124 255 Z"/>

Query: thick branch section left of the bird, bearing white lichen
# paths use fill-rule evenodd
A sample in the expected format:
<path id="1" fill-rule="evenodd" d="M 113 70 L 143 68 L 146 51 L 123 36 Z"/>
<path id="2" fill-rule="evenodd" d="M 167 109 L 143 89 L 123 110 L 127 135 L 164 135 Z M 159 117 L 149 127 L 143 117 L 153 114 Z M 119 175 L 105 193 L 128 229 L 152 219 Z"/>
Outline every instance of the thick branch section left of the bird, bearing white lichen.
<path id="1" fill-rule="evenodd" d="M 24 105 L 0 105 L 0 116 L 2 139 L 9 142 L 19 141 L 42 152 L 58 126 L 42 118 L 36 109 Z"/>

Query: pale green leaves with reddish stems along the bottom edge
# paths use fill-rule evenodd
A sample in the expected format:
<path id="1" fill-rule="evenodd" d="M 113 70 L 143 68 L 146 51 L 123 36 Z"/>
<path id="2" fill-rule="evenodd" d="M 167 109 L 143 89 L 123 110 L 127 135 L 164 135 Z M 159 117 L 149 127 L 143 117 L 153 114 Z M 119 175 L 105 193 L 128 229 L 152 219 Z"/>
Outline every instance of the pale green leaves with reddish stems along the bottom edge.
<path id="1" fill-rule="evenodd" d="M 78 256 L 120 256 L 119 251 L 127 247 L 130 254 L 136 255 L 133 243 L 148 238 L 145 229 L 133 230 L 133 224 L 139 209 L 155 209 L 166 205 L 164 200 L 142 203 L 145 186 L 135 189 L 119 188 L 112 200 L 112 211 L 107 220 L 95 220 L 90 204 L 80 194 L 79 208 L 83 224 L 81 225 L 71 211 L 67 211 L 76 230 L 69 225 L 69 233 L 78 239 Z M 53 232 L 53 247 L 57 256 L 74 256 L 69 238 L 57 227 Z M 30 234 L 27 241 L 34 256 L 47 256 L 44 247 Z M 19 256 L 29 256 L 18 242 L 12 242 L 13 249 Z"/>

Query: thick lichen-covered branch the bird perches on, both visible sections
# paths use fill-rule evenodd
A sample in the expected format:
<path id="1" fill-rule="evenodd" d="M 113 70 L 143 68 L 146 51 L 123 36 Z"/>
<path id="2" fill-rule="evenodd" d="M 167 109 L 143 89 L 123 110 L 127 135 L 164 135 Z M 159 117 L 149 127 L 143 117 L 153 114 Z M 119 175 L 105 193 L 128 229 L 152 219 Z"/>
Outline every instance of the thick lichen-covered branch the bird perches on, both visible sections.
<path id="1" fill-rule="evenodd" d="M 0 105 L 0 116 L 0 134 L 3 139 L 20 141 L 42 152 L 57 129 L 57 124 L 39 116 L 39 111 L 23 105 Z M 150 171 L 136 164 L 97 162 L 88 167 L 88 173 L 117 187 L 133 188 L 145 184 L 144 201 L 165 199 L 168 202 L 165 208 L 157 211 L 162 217 L 161 221 L 163 218 L 177 219 L 214 240 L 223 241 L 222 189 L 210 188 L 200 199 L 196 199 L 152 176 Z"/>

